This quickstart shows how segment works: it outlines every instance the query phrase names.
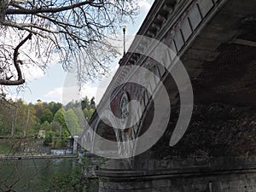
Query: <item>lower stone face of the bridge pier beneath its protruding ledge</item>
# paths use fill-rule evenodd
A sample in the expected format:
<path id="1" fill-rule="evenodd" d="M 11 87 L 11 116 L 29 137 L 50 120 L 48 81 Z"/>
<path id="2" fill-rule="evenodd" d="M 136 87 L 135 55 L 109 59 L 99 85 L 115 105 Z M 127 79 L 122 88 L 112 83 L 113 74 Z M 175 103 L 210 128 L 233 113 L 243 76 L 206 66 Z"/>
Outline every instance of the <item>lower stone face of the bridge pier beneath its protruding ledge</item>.
<path id="1" fill-rule="evenodd" d="M 255 170 L 207 172 L 175 176 L 134 177 L 100 184 L 100 192 L 255 192 Z"/>

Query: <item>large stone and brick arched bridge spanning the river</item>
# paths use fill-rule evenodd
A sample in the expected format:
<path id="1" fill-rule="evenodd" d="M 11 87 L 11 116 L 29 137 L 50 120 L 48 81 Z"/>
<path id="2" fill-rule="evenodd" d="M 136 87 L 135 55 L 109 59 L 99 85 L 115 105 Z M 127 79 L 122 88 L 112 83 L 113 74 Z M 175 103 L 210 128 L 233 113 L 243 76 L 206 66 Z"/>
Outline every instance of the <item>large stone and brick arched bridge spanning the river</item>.
<path id="1" fill-rule="evenodd" d="M 81 137 L 100 191 L 256 191 L 255 9 L 154 2 Z"/>

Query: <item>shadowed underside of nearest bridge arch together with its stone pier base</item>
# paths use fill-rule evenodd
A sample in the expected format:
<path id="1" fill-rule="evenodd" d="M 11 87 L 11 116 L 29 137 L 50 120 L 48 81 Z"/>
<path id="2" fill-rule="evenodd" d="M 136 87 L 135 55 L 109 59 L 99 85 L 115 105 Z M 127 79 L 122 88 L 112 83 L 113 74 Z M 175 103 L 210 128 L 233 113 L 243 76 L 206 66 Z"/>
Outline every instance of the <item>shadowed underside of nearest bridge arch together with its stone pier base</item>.
<path id="1" fill-rule="evenodd" d="M 102 169 L 99 175 L 109 179 L 102 191 L 256 191 L 255 8 L 253 0 L 230 0 L 207 20 L 181 57 L 195 96 L 189 129 L 169 146 L 179 113 L 169 77 L 165 85 L 174 105 L 165 135 L 131 160 L 131 172 Z M 145 129 L 152 115 L 154 110 Z"/>

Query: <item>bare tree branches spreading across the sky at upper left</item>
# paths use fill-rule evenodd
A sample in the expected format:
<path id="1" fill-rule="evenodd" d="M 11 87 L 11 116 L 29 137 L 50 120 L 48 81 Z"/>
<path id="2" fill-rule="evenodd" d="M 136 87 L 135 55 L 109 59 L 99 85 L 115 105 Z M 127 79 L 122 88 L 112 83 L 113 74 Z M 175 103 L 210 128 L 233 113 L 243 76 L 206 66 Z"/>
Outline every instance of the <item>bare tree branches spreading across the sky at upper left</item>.
<path id="1" fill-rule="evenodd" d="M 117 55 L 109 36 L 137 15 L 135 0 L 0 0 L 0 84 L 25 83 L 32 66 L 60 61 L 79 82 L 100 76 Z"/>

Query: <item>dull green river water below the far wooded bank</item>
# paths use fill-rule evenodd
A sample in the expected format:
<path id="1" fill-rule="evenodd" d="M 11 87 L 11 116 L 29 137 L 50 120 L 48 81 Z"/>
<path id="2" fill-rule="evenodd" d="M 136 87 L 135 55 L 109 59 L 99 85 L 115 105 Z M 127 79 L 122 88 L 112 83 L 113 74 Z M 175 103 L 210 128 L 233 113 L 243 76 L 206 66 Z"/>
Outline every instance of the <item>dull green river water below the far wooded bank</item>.
<path id="1" fill-rule="evenodd" d="M 19 192 L 48 191 L 50 177 L 55 172 L 70 172 L 76 163 L 74 158 L 0 160 L 0 191 L 6 190 L 5 184 L 14 184 Z"/>

